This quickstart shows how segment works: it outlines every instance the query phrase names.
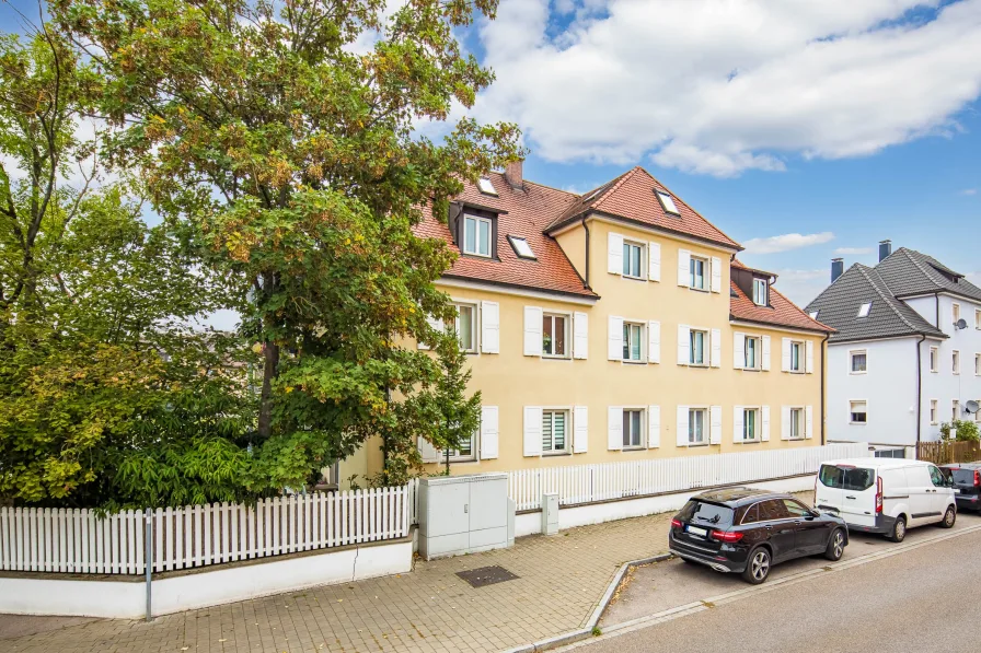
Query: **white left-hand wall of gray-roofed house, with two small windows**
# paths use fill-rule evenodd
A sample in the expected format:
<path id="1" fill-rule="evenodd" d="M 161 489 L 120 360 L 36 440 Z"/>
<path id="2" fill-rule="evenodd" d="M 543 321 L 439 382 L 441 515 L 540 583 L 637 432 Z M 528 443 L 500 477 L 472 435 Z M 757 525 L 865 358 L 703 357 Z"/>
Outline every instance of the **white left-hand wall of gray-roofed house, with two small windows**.
<path id="1" fill-rule="evenodd" d="M 916 442 L 916 340 L 897 338 L 828 347 L 829 441 Z M 853 352 L 865 352 L 864 374 L 852 372 Z M 866 423 L 852 422 L 853 401 L 866 404 Z"/>

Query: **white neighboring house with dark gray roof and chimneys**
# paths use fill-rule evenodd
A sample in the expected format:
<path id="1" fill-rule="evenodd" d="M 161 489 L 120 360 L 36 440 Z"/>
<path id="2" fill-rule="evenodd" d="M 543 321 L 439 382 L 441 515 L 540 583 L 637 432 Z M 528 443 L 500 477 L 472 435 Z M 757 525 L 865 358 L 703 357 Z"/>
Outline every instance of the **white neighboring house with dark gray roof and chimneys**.
<path id="1" fill-rule="evenodd" d="M 938 440 L 943 422 L 981 421 L 967 411 L 981 403 L 981 289 L 930 256 L 892 252 L 889 241 L 875 267 L 842 270 L 834 259 L 831 285 L 806 308 L 836 330 L 828 440 L 901 455 L 900 446 Z"/>

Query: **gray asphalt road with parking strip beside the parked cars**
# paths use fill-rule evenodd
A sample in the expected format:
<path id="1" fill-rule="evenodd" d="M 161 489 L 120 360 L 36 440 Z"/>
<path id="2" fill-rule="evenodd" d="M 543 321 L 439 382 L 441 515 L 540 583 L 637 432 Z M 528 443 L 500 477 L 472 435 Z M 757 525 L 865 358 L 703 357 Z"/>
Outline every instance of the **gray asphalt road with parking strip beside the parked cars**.
<path id="1" fill-rule="evenodd" d="M 958 530 L 965 530 L 981 525 L 981 517 L 959 515 L 958 522 Z M 881 540 L 876 538 L 857 536 L 857 546 L 850 547 L 852 556 L 839 563 L 841 569 L 821 571 L 827 562 L 807 560 L 784 568 L 788 582 L 771 585 L 781 578 L 777 567 L 770 581 L 757 588 L 678 561 L 659 570 L 648 568 L 650 578 L 658 579 L 661 596 L 635 579 L 621 598 L 630 600 L 630 610 L 621 607 L 609 611 L 602 622 L 605 634 L 568 649 L 588 653 L 981 650 L 977 643 L 981 641 L 981 608 L 977 607 L 981 530 L 928 541 L 953 534 L 927 526 L 911 530 L 903 545 L 888 546 L 879 545 Z M 880 556 L 888 553 L 890 546 L 908 550 L 870 561 L 857 555 L 874 549 L 863 553 Z M 638 600 L 638 594 L 645 591 L 646 605 L 651 608 L 647 615 L 692 602 L 697 605 L 725 593 L 737 595 L 679 613 L 684 616 L 667 616 L 660 622 L 612 631 L 614 623 L 622 622 L 616 617 L 636 618 L 644 609 L 638 606 L 645 603 Z"/>

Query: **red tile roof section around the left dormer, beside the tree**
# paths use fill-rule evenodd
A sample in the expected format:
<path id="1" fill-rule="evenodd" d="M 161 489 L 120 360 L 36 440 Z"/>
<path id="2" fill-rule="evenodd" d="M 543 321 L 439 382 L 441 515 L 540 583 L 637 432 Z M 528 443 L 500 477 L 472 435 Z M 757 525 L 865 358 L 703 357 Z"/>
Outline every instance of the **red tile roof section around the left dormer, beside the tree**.
<path id="1" fill-rule="evenodd" d="M 596 293 L 585 287 L 555 240 L 543 233 L 545 226 L 578 196 L 531 182 L 524 182 L 524 190 L 516 190 L 501 173 L 490 173 L 487 178 L 494 184 L 498 197 L 484 195 L 476 186 L 466 184 L 457 200 L 507 211 L 497 219 L 497 254 L 500 260 L 460 256 L 445 276 L 596 298 Z M 416 226 L 416 233 L 442 238 L 453 252 L 460 253 L 453 245 L 449 228 L 431 214 L 426 214 Z M 536 260 L 518 258 L 507 241 L 508 235 L 527 238 Z"/>

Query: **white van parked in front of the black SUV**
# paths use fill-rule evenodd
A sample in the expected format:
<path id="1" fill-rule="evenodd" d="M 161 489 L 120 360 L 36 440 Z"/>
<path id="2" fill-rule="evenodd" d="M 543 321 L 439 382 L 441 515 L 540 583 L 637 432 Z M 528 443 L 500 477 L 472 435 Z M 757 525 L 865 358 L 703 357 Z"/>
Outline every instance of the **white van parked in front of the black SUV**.
<path id="1" fill-rule="evenodd" d="M 907 528 L 954 526 L 954 488 L 933 463 L 900 458 L 853 458 L 821 465 L 815 508 L 840 515 L 850 530 L 880 533 L 902 541 Z"/>

